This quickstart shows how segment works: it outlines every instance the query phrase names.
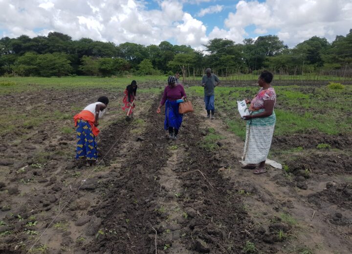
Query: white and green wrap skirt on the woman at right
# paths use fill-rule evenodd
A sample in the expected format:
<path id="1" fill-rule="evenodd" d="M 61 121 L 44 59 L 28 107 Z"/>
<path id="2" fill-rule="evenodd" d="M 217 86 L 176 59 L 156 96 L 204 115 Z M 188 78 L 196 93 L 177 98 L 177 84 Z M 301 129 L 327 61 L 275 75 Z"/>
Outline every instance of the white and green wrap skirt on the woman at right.
<path id="1" fill-rule="evenodd" d="M 253 111 L 251 115 L 261 112 L 264 112 L 264 109 Z M 268 117 L 253 118 L 247 121 L 242 164 L 258 164 L 266 160 L 271 146 L 275 122 L 275 112 Z"/>

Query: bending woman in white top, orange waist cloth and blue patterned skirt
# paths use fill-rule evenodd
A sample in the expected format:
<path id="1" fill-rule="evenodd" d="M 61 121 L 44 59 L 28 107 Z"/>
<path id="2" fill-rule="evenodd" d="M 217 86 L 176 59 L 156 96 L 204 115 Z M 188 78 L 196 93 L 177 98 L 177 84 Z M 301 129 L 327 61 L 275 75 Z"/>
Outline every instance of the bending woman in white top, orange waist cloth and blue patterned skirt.
<path id="1" fill-rule="evenodd" d="M 86 158 L 87 166 L 92 166 L 98 158 L 95 137 L 98 136 L 100 130 L 97 126 L 108 104 L 108 97 L 99 97 L 97 102 L 89 104 L 73 117 L 75 127 L 77 127 L 76 159 Z"/>

